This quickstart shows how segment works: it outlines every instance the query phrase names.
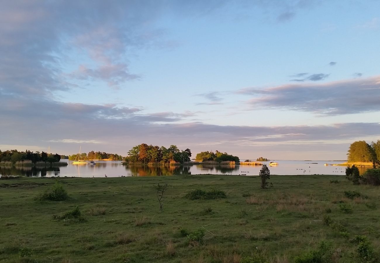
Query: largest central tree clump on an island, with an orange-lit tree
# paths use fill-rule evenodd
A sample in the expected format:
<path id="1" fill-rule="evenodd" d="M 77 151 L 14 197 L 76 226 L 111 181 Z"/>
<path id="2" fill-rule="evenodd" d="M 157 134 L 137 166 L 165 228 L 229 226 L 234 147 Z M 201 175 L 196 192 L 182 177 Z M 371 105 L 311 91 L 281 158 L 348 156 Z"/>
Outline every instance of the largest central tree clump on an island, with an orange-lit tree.
<path id="1" fill-rule="evenodd" d="M 128 151 L 125 161 L 130 163 L 184 163 L 190 162 L 191 155 L 190 149 L 180 151 L 176 145 L 166 148 L 142 143 Z"/>

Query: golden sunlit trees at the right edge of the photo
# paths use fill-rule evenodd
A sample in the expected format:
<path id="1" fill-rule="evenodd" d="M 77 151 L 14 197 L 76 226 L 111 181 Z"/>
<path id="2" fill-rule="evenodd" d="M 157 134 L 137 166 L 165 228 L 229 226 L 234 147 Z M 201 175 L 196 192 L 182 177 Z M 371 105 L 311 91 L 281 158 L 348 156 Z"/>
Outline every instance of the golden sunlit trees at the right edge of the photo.
<path id="1" fill-rule="evenodd" d="M 366 141 L 351 143 L 347 153 L 347 161 L 372 163 L 374 167 L 380 165 L 380 140 L 371 144 L 366 143 Z"/>

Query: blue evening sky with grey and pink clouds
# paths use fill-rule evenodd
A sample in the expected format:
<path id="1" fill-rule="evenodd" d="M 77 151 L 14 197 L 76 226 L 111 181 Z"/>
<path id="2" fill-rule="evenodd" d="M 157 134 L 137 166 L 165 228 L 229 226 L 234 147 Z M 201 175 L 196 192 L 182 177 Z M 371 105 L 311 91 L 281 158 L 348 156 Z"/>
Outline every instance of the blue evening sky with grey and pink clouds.
<path id="1" fill-rule="evenodd" d="M 377 0 L 0 1 L 0 150 L 345 160 L 380 139 Z"/>

